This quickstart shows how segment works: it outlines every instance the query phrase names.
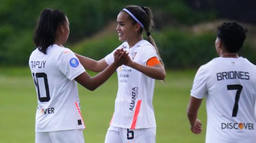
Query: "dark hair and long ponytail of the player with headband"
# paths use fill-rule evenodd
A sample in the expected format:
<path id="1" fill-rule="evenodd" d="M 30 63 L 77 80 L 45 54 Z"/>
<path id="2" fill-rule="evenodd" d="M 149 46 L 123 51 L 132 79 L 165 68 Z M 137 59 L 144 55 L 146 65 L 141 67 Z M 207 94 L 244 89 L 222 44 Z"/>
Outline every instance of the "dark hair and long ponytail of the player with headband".
<path id="1" fill-rule="evenodd" d="M 156 53 L 160 59 L 161 64 L 164 67 L 162 58 L 160 57 L 158 47 L 155 44 L 155 40 L 151 36 L 150 31 L 155 26 L 154 20 L 153 20 L 153 14 L 148 7 L 138 7 L 138 6 L 127 6 L 126 9 L 132 13 L 144 26 L 145 31 L 147 32 L 148 36 L 148 42 L 151 43 L 156 50 Z M 134 21 L 134 23 L 137 23 L 131 16 L 130 19 Z M 140 32 L 143 32 L 143 28 L 141 26 Z"/>

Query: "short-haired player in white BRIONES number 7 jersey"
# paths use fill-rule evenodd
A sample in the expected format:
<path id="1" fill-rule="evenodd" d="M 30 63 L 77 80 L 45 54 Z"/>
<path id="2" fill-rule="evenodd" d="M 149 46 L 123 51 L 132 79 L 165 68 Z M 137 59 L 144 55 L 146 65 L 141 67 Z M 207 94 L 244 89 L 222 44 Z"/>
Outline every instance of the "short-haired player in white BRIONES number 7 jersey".
<path id="1" fill-rule="evenodd" d="M 206 97 L 205 143 L 256 141 L 256 66 L 238 56 L 246 31 L 236 22 L 218 26 L 215 46 L 220 57 L 202 65 L 195 75 L 187 114 L 191 131 L 200 134 L 197 112 Z"/>

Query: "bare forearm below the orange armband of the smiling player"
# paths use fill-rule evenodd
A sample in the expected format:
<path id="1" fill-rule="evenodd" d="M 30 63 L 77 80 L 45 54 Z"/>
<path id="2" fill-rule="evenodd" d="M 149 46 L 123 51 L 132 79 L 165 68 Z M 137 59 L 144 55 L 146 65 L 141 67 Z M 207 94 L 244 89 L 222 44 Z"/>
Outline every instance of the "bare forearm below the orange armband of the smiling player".
<path id="1" fill-rule="evenodd" d="M 163 80 L 165 78 L 165 70 L 161 64 L 157 64 L 152 67 L 147 65 L 141 65 L 132 61 L 131 59 L 128 59 L 128 62 L 125 65 L 132 67 L 137 71 L 141 71 L 150 78 L 159 80 Z"/>

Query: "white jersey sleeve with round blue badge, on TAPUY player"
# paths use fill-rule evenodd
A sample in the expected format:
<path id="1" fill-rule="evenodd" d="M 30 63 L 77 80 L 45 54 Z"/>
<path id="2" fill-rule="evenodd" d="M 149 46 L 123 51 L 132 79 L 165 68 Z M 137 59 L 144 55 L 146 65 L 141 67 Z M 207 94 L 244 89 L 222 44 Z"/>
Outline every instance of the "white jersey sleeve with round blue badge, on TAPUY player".
<path id="1" fill-rule="evenodd" d="M 66 48 L 67 49 L 67 48 Z M 85 72 L 84 67 L 80 64 L 79 59 L 74 53 L 67 49 L 57 56 L 57 66 L 59 70 L 69 79 L 73 80 L 81 73 Z"/>

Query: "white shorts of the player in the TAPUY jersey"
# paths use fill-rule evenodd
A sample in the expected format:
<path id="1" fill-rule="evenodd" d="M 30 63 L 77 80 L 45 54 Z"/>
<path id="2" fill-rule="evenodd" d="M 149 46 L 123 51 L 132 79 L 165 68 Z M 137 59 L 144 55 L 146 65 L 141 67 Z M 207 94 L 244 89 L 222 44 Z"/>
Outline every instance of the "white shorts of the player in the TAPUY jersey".
<path id="1" fill-rule="evenodd" d="M 82 130 L 35 132 L 35 143 L 84 143 Z"/>

